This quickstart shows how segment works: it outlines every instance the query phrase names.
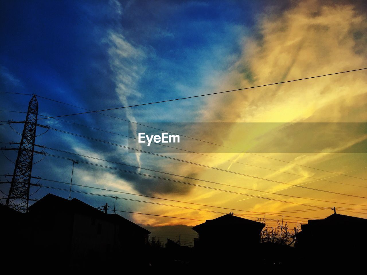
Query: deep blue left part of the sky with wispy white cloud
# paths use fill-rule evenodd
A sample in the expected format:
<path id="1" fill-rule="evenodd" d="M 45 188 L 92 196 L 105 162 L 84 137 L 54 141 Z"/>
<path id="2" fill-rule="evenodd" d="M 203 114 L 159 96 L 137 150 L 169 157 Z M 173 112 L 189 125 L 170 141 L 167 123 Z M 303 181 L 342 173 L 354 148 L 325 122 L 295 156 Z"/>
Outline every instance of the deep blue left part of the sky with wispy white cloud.
<path id="1" fill-rule="evenodd" d="M 243 37 L 253 28 L 255 16 L 261 11 L 260 4 L 253 1 L 3 1 L 0 87 L 2 91 L 37 94 L 90 110 L 206 93 L 215 89 L 211 77 L 232 66 L 240 55 Z M 0 96 L 3 110 L 26 111 L 30 99 L 22 95 Z M 53 116 L 80 111 L 65 104 L 38 100 L 40 114 Z M 138 122 L 201 121 L 202 103 L 203 100 L 196 99 L 108 114 Z M 0 115 L 2 120 L 24 119 L 24 114 L 1 112 Z M 103 115 L 66 119 L 127 135 L 127 122 Z M 42 122 L 127 144 L 126 139 L 109 133 L 52 120 Z M 1 133 L 2 141 L 17 141 L 20 137 L 6 127 Z M 17 130 L 21 128 L 18 126 Z M 122 158 L 139 164 L 134 154 L 116 155 L 116 149 L 111 146 L 52 131 L 37 137 L 37 143 L 73 152 L 83 148 L 89 155 L 96 153 L 103 158 L 115 161 Z M 14 152 L 7 154 L 10 159 L 15 158 Z M 11 174 L 13 164 L 4 157 L 1 162 L 1 173 Z M 149 157 L 144 162 L 150 165 Z M 34 165 L 33 175 L 68 182 L 70 168 L 71 162 L 46 157 Z M 79 181 L 78 169 L 75 183 Z M 81 170 L 95 178 L 106 172 L 93 166 Z M 141 179 L 126 173 L 117 177 L 142 193 L 186 190 L 178 186 L 159 188 L 154 184 L 147 188 Z M 37 197 L 47 192 L 41 189 Z M 53 192 L 65 196 L 65 192 Z M 84 199 L 92 204 L 103 202 L 99 198 Z"/>

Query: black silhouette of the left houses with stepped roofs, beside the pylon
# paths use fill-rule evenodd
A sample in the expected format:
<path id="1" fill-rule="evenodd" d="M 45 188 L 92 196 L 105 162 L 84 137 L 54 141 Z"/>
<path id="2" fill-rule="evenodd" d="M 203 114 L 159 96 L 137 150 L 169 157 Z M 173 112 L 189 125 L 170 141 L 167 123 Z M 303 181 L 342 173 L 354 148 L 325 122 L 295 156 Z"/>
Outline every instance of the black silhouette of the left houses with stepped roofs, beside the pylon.
<path id="1" fill-rule="evenodd" d="M 75 263 L 120 257 L 142 261 L 150 231 L 117 214 L 106 214 L 79 199 L 47 194 L 29 207 L 30 245 Z M 136 257 L 140 252 L 139 257 Z"/>

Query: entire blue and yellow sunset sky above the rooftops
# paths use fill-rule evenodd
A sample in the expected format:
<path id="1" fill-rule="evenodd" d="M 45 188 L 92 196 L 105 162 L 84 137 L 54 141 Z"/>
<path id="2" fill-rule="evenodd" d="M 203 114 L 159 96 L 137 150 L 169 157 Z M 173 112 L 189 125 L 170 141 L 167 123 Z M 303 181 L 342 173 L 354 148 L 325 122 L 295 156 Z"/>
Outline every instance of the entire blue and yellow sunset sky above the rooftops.
<path id="1" fill-rule="evenodd" d="M 37 95 L 39 118 L 45 118 L 365 68 L 365 11 L 363 1 L 1 1 L 0 118 L 24 120 L 25 114 L 17 112 L 27 110 L 30 94 Z M 69 153 L 45 149 L 49 155 L 34 157 L 41 161 L 32 175 L 65 182 L 40 180 L 44 186 L 68 189 L 68 158 L 115 168 L 80 162 L 73 183 L 148 197 L 80 186 L 73 190 L 125 198 L 116 200 L 117 210 L 160 215 L 118 212 L 156 235 L 189 235 L 193 225 L 229 212 L 248 219 L 265 216 L 269 226 L 284 219 L 291 227 L 297 220 L 329 216 L 333 206 L 341 214 L 367 217 L 366 153 L 346 153 L 365 144 L 366 131 L 334 137 L 329 146 L 330 129 L 318 129 L 308 137 L 321 147 L 317 152 L 250 154 L 245 153 L 251 149 L 246 137 L 221 124 L 366 122 L 366 84 L 361 70 L 59 118 L 68 122 L 39 120 L 104 142 L 51 129 L 41 135 L 46 129 L 38 128 L 37 144 Z M 205 155 L 161 154 L 170 158 L 129 152 L 110 144 L 128 146 L 128 121 L 215 122 L 205 131 L 193 127 L 184 134 L 240 151 L 221 153 L 220 146 L 211 145 Z M 1 142 L 19 142 L 16 131 L 22 126 L 12 126 L 0 126 Z M 278 129 L 277 139 L 286 142 L 293 134 Z M 264 132 L 253 136 L 264 138 Z M 265 135 L 264 144 L 270 152 L 273 137 Z M 15 158 L 13 151 L 3 151 L 1 175 L 12 174 Z M 6 197 L 8 186 L 1 191 Z M 42 187 L 32 198 L 48 192 L 69 197 L 68 191 Z M 96 207 L 115 203 L 111 197 L 77 192 L 72 197 Z"/>

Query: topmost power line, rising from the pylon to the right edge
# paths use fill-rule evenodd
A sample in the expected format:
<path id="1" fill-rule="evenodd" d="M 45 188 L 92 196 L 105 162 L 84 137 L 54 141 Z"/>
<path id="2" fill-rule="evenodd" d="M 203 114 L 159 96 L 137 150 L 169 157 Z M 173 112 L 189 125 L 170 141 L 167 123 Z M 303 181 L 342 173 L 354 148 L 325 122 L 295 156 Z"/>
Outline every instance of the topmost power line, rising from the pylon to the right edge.
<path id="1" fill-rule="evenodd" d="M 307 80 L 307 79 L 312 79 L 312 78 L 317 78 L 317 77 L 332 76 L 332 75 L 335 75 L 335 74 L 356 72 L 356 71 L 366 70 L 366 69 L 367 68 L 361 68 L 361 69 L 349 70 L 349 71 L 338 72 L 338 73 L 330 73 L 330 74 L 323 74 L 323 75 L 319 75 L 319 76 L 312 76 L 312 77 L 306 77 L 306 78 L 298 78 L 298 79 L 294 79 L 294 80 L 281 81 L 281 82 L 276 82 L 276 83 L 271 83 L 271 84 L 264 84 L 264 85 L 252 86 L 252 87 L 246 87 L 246 88 L 241 88 L 241 89 L 234 89 L 234 90 L 229 90 L 229 91 L 215 92 L 215 93 L 209 93 L 209 94 L 203 94 L 203 95 L 195 95 L 195 96 L 187 96 L 185 98 L 175 98 L 175 99 L 161 100 L 161 101 L 156 101 L 156 102 L 141 103 L 141 104 L 135 104 L 135 105 L 130 105 L 130 106 L 115 107 L 115 108 L 102 109 L 102 110 L 96 110 L 96 111 L 87 111 L 87 112 L 75 113 L 75 114 L 57 115 L 57 116 L 54 116 L 52 118 L 55 118 L 55 117 L 66 117 L 66 116 L 70 116 L 70 115 L 97 113 L 97 112 L 109 111 L 109 110 L 118 110 L 118 109 L 131 108 L 131 107 L 137 107 L 137 106 L 145 106 L 145 105 L 150 105 L 150 104 L 171 102 L 171 101 L 183 100 L 183 99 L 190 99 L 190 98 L 199 98 L 199 97 L 202 97 L 202 96 L 224 94 L 224 93 L 235 92 L 235 91 L 243 91 L 243 90 L 247 90 L 247 89 L 254 89 L 254 88 L 266 87 L 266 86 L 271 86 L 271 85 L 290 83 L 290 82 L 295 82 L 295 81 L 300 81 L 300 80 Z M 44 118 L 40 118 L 40 120 L 42 120 L 42 119 L 44 119 Z"/>

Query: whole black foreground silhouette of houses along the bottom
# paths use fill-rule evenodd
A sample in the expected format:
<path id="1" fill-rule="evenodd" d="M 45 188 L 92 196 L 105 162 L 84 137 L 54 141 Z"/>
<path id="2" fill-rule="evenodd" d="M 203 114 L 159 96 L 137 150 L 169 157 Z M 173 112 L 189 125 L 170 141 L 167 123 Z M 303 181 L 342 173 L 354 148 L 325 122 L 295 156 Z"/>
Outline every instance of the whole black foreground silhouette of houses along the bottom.
<path id="1" fill-rule="evenodd" d="M 227 214 L 193 227 L 194 247 L 169 239 L 157 245 L 149 242 L 148 230 L 117 214 L 51 194 L 28 213 L 0 205 L 0 214 L 5 271 L 353 270 L 364 265 L 367 244 L 367 220 L 340 214 L 302 225 L 292 246 L 264 241 L 264 223 Z"/>

